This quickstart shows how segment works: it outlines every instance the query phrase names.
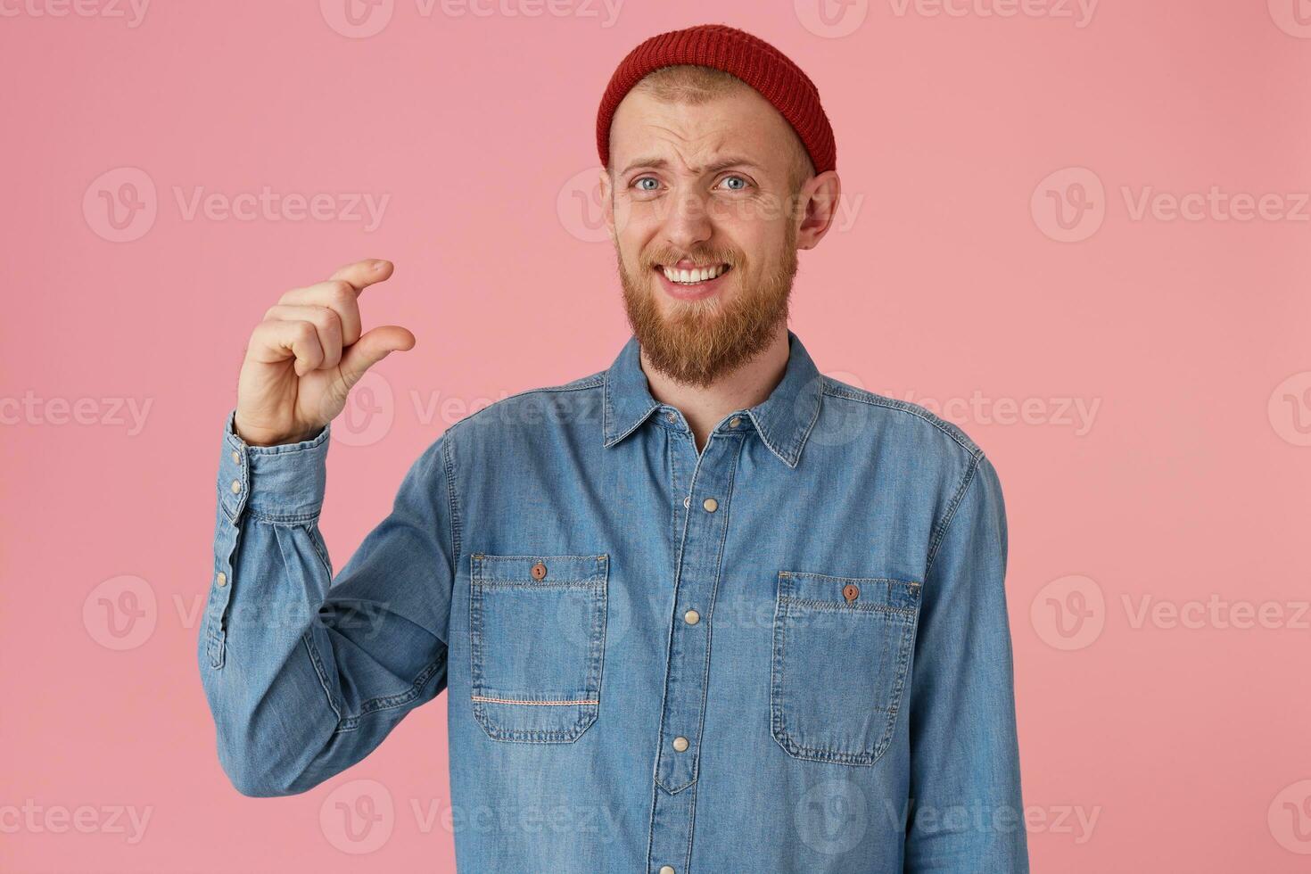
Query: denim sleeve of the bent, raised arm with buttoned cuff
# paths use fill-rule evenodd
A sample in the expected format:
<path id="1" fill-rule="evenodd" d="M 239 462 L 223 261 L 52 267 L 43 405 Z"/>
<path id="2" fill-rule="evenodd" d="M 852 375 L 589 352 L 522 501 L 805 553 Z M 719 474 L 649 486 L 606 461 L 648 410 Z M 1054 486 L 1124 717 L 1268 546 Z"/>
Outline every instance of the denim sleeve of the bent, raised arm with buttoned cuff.
<path id="1" fill-rule="evenodd" d="M 214 573 L 198 642 L 218 756 L 245 795 L 305 791 L 367 756 L 446 688 L 450 446 L 410 466 L 392 510 L 333 579 L 319 531 L 332 426 L 256 447 L 228 413 Z"/>

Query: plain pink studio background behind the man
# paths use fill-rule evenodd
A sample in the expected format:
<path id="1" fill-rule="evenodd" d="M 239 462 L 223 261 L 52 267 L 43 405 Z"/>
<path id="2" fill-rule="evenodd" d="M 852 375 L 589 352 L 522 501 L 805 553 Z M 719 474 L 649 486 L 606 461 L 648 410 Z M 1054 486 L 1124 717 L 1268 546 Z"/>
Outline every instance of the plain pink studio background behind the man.
<path id="1" fill-rule="evenodd" d="M 1311 3 L 85 3 L 0 7 L 0 869 L 454 870 L 444 697 L 304 795 L 219 769 L 194 649 L 244 343 L 396 262 L 366 324 L 418 346 L 330 452 L 340 567 L 447 425 L 610 364 L 597 102 L 707 21 L 836 131 L 791 326 L 1000 472 L 1034 870 L 1311 869 Z M 190 210 L 265 187 L 329 215 Z M 353 843 L 362 793 L 393 812 Z"/>

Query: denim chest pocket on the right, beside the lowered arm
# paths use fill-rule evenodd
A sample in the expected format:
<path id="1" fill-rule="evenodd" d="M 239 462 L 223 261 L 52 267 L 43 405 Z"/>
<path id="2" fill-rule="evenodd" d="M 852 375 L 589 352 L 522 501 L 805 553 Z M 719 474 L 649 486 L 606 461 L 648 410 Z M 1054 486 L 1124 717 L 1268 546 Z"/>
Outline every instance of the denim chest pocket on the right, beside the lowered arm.
<path id="1" fill-rule="evenodd" d="M 874 764 L 891 742 L 919 617 L 916 582 L 779 571 L 773 739 L 797 759 Z"/>

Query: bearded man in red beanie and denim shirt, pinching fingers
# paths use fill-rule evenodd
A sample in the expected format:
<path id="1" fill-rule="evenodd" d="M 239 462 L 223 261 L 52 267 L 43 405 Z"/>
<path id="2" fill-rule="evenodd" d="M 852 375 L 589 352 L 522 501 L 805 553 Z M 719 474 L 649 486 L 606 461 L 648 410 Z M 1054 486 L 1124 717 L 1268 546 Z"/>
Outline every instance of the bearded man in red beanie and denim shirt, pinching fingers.
<path id="1" fill-rule="evenodd" d="M 198 641 L 225 773 L 303 793 L 447 691 L 460 870 L 1027 871 L 998 474 L 788 328 L 840 197 L 815 85 L 659 34 L 597 145 L 632 337 L 448 427 L 336 578 L 330 422 L 414 345 L 361 324 L 392 265 L 256 326 Z"/>

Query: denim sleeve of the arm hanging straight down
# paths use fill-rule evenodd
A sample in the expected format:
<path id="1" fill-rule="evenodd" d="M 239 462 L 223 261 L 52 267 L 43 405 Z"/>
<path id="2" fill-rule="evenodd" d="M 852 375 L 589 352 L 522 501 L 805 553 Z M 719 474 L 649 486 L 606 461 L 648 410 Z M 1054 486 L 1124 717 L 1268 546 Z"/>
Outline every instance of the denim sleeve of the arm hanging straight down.
<path id="1" fill-rule="evenodd" d="M 977 455 L 929 557 L 910 702 L 906 871 L 1027 873 L 1002 485 Z"/>

